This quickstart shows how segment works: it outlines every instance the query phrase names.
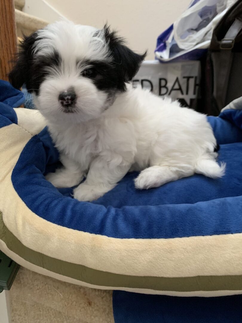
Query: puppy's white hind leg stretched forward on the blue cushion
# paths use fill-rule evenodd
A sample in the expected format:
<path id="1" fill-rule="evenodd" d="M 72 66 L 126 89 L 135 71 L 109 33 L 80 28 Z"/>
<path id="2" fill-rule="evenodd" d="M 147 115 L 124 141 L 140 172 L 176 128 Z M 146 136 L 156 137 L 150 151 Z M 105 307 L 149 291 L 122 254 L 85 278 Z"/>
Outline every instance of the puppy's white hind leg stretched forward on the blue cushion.
<path id="1" fill-rule="evenodd" d="M 193 174 L 194 171 L 191 169 L 181 170 L 169 166 L 151 166 L 140 172 L 139 176 L 135 179 L 135 187 L 140 190 L 158 187 Z"/>

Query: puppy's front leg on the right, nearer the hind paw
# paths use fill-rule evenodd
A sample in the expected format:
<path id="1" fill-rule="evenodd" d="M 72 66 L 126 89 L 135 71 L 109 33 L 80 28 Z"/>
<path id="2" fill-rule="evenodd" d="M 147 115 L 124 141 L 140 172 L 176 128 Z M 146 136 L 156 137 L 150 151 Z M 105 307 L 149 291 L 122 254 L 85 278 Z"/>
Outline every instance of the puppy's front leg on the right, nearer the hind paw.
<path id="1" fill-rule="evenodd" d="M 128 172 L 131 163 L 127 163 L 121 156 L 107 160 L 98 156 L 92 163 L 86 177 L 74 190 L 74 198 L 79 201 L 93 201 L 103 196 L 116 186 Z"/>

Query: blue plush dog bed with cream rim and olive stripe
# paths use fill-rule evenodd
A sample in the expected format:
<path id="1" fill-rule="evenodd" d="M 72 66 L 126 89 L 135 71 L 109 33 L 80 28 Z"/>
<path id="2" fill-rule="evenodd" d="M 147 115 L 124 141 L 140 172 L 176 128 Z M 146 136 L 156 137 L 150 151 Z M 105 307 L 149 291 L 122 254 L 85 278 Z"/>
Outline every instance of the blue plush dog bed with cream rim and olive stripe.
<path id="1" fill-rule="evenodd" d="M 0 249 L 38 273 L 88 287 L 177 296 L 242 293 L 242 111 L 209 117 L 227 163 L 138 191 L 128 173 L 92 203 L 44 175 L 58 152 L 37 110 L 0 101 Z M 15 93 L 15 94 L 14 94 Z"/>

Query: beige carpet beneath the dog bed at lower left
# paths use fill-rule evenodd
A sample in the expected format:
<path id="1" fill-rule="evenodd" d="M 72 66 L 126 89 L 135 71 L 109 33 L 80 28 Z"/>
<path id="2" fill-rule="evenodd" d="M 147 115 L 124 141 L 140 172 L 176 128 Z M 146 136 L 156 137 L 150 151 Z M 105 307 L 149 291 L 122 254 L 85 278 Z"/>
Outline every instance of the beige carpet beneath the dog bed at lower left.
<path id="1" fill-rule="evenodd" d="M 112 291 L 20 268 L 10 290 L 12 323 L 113 323 Z"/>

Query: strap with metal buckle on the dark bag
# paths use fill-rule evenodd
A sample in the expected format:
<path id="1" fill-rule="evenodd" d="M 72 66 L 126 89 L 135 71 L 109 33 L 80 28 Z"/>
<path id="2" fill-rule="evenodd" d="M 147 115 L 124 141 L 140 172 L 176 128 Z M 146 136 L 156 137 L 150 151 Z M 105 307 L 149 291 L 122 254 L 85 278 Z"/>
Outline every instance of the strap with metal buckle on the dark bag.
<path id="1" fill-rule="evenodd" d="M 235 19 L 220 42 L 220 52 L 212 53 L 214 64 L 214 96 L 219 110 L 224 108 L 230 70 L 233 62 L 232 49 L 237 35 L 242 30 L 242 21 Z"/>

